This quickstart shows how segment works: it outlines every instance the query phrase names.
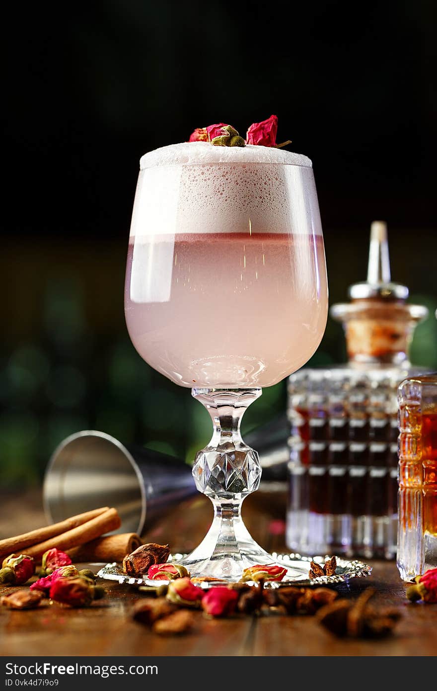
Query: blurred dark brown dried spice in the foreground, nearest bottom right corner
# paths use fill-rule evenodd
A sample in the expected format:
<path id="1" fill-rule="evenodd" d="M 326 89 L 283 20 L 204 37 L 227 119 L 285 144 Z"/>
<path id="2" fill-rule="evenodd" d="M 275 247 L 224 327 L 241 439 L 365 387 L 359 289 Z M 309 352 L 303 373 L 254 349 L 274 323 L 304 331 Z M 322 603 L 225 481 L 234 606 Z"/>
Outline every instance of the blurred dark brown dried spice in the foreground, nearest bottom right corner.
<path id="1" fill-rule="evenodd" d="M 400 619 L 400 611 L 394 607 L 372 607 L 369 600 L 375 594 L 367 588 L 355 602 L 338 600 L 322 607 L 317 614 L 318 622 L 336 636 L 350 638 L 382 638 L 388 636 Z"/>

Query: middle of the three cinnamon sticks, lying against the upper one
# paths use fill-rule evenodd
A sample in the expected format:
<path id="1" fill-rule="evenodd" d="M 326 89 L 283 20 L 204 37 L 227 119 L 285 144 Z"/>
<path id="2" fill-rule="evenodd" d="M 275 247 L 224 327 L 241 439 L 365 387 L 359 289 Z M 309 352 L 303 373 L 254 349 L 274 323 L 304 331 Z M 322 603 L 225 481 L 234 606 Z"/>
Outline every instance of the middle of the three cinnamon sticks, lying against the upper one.
<path id="1" fill-rule="evenodd" d="M 84 545 L 85 542 L 99 538 L 104 533 L 117 530 L 121 523 L 117 510 L 108 509 L 105 513 L 101 513 L 86 523 L 66 531 L 66 533 L 61 533 L 61 535 L 50 538 L 50 540 L 39 542 L 37 545 L 26 548 L 26 554 L 38 562 L 43 553 L 48 549 L 57 547 L 57 549 L 66 551 L 72 547 Z"/>

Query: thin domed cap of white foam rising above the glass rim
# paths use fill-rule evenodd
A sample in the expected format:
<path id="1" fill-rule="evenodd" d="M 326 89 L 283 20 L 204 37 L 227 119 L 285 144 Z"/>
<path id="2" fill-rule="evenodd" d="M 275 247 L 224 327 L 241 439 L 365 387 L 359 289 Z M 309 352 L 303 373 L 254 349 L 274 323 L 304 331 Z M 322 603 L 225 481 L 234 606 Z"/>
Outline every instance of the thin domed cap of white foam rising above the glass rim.
<path id="1" fill-rule="evenodd" d="M 273 146 L 213 146 L 208 142 L 182 142 L 149 151 L 139 161 L 141 169 L 168 165 L 202 163 L 282 163 L 311 167 L 311 160 L 302 153 L 292 153 Z"/>

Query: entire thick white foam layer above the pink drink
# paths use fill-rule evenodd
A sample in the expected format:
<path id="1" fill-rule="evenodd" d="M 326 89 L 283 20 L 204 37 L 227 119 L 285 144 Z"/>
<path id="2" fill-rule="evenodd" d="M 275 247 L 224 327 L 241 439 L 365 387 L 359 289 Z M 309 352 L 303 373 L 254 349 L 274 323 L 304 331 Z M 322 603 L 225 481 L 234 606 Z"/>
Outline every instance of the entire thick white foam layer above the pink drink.
<path id="1" fill-rule="evenodd" d="M 269 146 L 184 142 L 146 153 L 131 236 L 321 234 L 311 161 Z"/>

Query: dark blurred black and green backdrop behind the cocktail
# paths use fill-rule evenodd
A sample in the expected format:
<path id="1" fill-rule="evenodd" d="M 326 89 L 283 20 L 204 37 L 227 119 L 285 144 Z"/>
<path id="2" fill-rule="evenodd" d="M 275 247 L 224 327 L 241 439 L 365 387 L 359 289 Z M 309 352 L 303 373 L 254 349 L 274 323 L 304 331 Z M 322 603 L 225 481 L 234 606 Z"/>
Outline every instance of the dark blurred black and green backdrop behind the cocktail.
<path id="1" fill-rule="evenodd" d="M 364 279 L 369 224 L 392 275 L 432 310 L 412 359 L 437 368 L 436 15 L 426 0 L 17 6 L 4 25 L 0 473 L 37 481 L 96 428 L 192 460 L 209 419 L 150 370 L 124 325 L 139 157 L 196 126 L 279 117 L 313 160 L 331 303 Z M 344 361 L 329 320 L 312 363 Z M 282 410 L 264 390 L 246 429 Z"/>

